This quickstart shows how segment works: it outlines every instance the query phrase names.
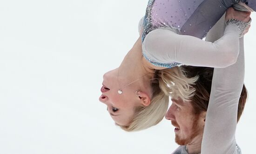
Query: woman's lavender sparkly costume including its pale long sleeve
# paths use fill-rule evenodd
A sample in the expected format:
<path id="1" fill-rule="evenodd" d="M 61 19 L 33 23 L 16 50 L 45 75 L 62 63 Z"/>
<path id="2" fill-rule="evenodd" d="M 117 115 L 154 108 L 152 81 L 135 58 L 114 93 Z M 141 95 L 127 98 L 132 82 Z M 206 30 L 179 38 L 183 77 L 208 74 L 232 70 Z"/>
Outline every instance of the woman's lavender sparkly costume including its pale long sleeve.
<path id="1" fill-rule="evenodd" d="M 185 39 L 183 39 L 182 36 L 178 36 L 177 34 L 202 39 L 209 32 L 210 28 L 222 17 L 227 8 L 232 5 L 237 5 L 236 3 L 239 2 L 245 2 L 254 10 L 256 8 L 256 0 L 149 0 L 143 20 L 141 36 L 143 42 L 142 53 L 144 57 L 153 65 L 170 68 L 181 64 L 204 67 L 227 67 L 234 64 L 234 57 L 237 58 L 238 52 L 231 54 L 233 55 L 233 59 L 230 59 L 230 57 L 226 59 L 225 57 L 225 55 L 228 54 L 225 48 L 229 45 L 232 46 L 232 44 L 236 42 L 238 43 L 238 39 L 236 41 L 233 40 L 234 38 L 232 37 L 234 37 L 234 35 L 227 34 L 231 33 L 231 31 L 237 31 L 234 25 L 233 27 L 230 25 L 227 26 L 227 31 L 224 35 L 226 39 L 222 42 L 214 42 L 216 43 L 214 44 L 215 47 L 210 44 L 205 46 L 205 42 L 202 43 L 202 41 L 192 37 L 184 37 Z M 246 9 L 244 9 L 244 11 L 246 11 Z M 176 35 L 174 36 L 172 33 Z M 148 36 L 149 34 L 150 36 Z M 166 37 L 163 38 L 163 36 Z M 182 46 L 177 46 L 179 41 L 183 43 Z M 176 44 L 174 42 L 176 42 Z M 191 42 L 194 42 L 194 46 Z M 184 45 L 185 43 L 187 45 Z M 197 47 L 195 47 L 196 44 L 198 44 Z M 219 47 L 220 44 L 226 44 L 226 46 L 222 45 L 222 48 L 216 51 L 216 46 Z M 180 49 L 179 51 L 183 49 L 183 55 L 186 53 L 185 55 L 187 56 L 185 56 L 184 59 L 182 55 L 180 55 L 181 52 L 179 53 L 177 51 L 178 49 Z M 190 53 L 185 50 L 190 50 Z M 209 55 L 202 56 L 205 62 L 203 60 L 198 61 L 197 56 L 206 54 L 207 52 L 198 53 L 198 50 L 207 50 L 209 53 Z M 192 55 L 191 53 L 195 54 Z M 220 59 L 223 63 L 221 61 L 218 63 L 219 65 L 217 65 L 216 61 L 207 59 L 209 57 Z"/>

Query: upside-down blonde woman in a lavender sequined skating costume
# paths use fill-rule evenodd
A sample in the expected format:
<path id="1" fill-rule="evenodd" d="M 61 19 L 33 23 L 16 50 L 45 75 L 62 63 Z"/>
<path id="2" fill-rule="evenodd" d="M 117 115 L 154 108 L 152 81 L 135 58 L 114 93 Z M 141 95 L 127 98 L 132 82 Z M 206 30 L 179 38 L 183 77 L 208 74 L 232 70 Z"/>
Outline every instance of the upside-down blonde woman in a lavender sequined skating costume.
<path id="1" fill-rule="evenodd" d="M 209 27 L 204 25 L 198 27 L 201 31 L 196 32 L 197 36 L 204 35 L 204 29 L 209 30 L 227 7 L 234 4 L 231 0 L 225 1 L 227 2 L 218 3 L 218 7 L 214 5 L 213 7 L 216 8 L 211 8 L 217 15 L 208 13 L 206 10 L 200 11 L 203 13 L 202 20 L 212 24 Z M 214 43 L 206 42 L 201 38 L 181 35 L 182 30 L 184 33 L 189 33 L 189 29 L 182 29 L 183 26 L 176 22 L 176 20 L 181 21 L 182 17 L 177 18 L 165 12 L 165 9 L 161 9 L 175 6 L 182 10 L 190 10 L 190 14 L 183 14 L 183 16 L 192 18 L 193 14 L 198 12 L 197 8 L 204 9 L 207 6 L 200 7 L 204 1 L 201 0 L 200 4 L 195 4 L 196 8 L 193 10 L 186 5 L 183 6 L 183 3 L 177 0 L 162 2 L 162 0 L 149 0 L 142 36 L 125 56 L 120 67 L 103 76 L 100 101 L 107 105 L 108 112 L 116 125 L 127 131 L 145 129 L 161 121 L 168 108 L 169 95 L 173 98 L 181 97 L 184 100 L 188 100 L 193 95 L 194 89 L 190 88 L 190 84 L 195 82 L 196 77 L 186 78 L 175 66 L 180 63 L 207 67 L 227 67 L 234 64 L 239 53 L 239 36 L 243 35 L 243 30 L 249 25 L 246 23 L 249 21 L 248 13 L 231 8 L 226 16 L 227 27 L 224 36 Z M 169 8 L 169 10 L 172 9 Z M 162 12 L 163 15 L 160 16 L 161 11 L 164 13 Z M 209 18 L 205 18 L 207 16 Z M 168 20 L 168 17 L 175 20 Z M 211 21 L 212 19 L 216 20 Z M 174 25 L 170 25 L 173 22 Z M 175 90 L 177 87 L 182 87 L 180 89 L 183 90 Z"/>

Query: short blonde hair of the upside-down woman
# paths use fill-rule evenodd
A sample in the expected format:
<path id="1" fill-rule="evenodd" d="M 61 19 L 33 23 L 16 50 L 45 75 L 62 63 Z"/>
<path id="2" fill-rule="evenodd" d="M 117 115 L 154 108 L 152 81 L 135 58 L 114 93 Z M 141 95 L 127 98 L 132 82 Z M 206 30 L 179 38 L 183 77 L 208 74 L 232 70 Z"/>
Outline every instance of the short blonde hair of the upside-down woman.
<path id="1" fill-rule="evenodd" d="M 168 109 L 169 96 L 189 100 L 195 89 L 191 86 L 198 77 L 187 78 L 180 67 L 166 68 L 155 71 L 151 80 L 152 98 L 147 107 L 135 108 L 135 114 L 129 126 L 120 126 L 123 130 L 139 131 L 155 126 L 162 121 Z"/>

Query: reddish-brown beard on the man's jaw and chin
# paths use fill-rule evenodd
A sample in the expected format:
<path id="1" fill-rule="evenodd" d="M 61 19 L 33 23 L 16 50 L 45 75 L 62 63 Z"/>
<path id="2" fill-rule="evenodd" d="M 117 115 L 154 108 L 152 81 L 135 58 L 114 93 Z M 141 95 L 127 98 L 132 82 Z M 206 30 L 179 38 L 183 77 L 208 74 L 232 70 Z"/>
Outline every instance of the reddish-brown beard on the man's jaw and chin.
<path id="1" fill-rule="evenodd" d="M 185 136 L 185 138 L 180 138 L 177 134 L 175 134 L 175 142 L 178 144 L 178 145 L 188 145 L 189 143 L 192 142 L 192 140 L 195 138 L 195 136 L 197 136 L 198 134 L 201 133 L 201 129 L 200 127 L 198 126 L 198 119 L 199 119 L 199 115 L 195 115 L 195 117 L 193 118 L 193 127 L 191 128 L 192 129 L 192 134 L 190 134 L 189 136 Z M 177 126 L 177 123 L 174 122 L 174 126 Z"/>

